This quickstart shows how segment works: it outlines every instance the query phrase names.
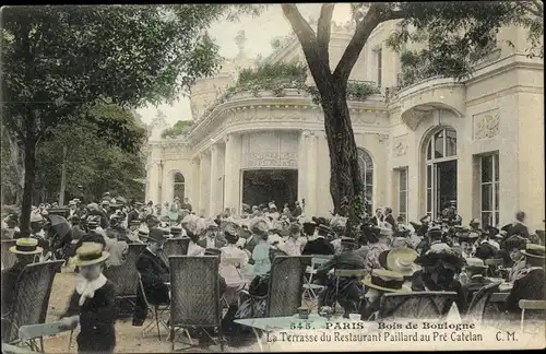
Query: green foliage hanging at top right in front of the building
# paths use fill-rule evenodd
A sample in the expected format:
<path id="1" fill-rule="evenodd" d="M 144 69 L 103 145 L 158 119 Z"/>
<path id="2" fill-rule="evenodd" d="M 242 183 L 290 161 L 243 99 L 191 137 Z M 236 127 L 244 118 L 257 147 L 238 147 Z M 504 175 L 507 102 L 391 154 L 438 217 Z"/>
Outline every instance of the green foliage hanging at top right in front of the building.
<path id="1" fill-rule="evenodd" d="M 403 19 L 388 40 L 402 52 L 401 86 L 430 78 L 461 80 L 497 47 L 499 28 L 518 24 L 524 10 L 515 1 L 401 2 Z M 426 43 L 403 50 L 407 43 Z"/>

